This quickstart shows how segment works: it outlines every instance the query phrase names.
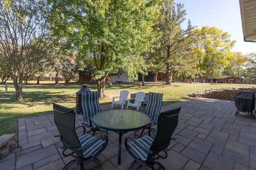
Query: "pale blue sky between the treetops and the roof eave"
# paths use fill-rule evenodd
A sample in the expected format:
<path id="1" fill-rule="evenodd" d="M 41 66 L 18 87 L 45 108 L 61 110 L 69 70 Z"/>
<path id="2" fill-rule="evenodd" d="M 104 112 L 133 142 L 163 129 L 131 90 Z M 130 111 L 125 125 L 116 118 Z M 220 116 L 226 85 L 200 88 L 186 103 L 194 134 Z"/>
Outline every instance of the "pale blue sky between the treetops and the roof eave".
<path id="1" fill-rule="evenodd" d="M 174 0 L 175 3 L 184 4 L 186 21 L 182 24 L 186 28 L 188 19 L 193 26 L 217 27 L 231 35 L 236 40 L 232 48 L 234 52 L 256 53 L 256 43 L 244 42 L 239 0 Z"/>

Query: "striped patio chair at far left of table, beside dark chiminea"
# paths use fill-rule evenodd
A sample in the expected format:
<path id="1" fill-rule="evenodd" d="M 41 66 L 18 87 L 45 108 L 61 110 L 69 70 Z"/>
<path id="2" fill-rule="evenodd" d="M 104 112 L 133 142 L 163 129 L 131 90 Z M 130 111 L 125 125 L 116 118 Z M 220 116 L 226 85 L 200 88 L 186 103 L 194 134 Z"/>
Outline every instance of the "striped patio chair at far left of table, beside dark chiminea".
<path id="1" fill-rule="evenodd" d="M 102 131 L 105 135 L 107 135 L 108 131 L 104 131 L 92 123 L 92 117 L 101 111 L 98 91 L 81 92 L 81 99 L 83 112 L 80 114 L 84 117 L 84 123 L 82 123 L 82 125 L 84 127 L 91 128 L 87 133 L 93 132 L 92 135 L 94 136 L 96 131 Z"/>

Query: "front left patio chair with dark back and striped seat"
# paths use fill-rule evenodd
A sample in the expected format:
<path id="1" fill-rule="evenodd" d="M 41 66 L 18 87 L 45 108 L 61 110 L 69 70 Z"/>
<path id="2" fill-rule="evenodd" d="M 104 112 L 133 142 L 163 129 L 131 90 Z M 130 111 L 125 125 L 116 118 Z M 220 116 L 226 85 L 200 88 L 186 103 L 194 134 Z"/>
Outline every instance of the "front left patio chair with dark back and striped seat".
<path id="1" fill-rule="evenodd" d="M 68 162 L 63 170 L 66 170 L 69 166 L 76 164 L 80 166 L 80 170 L 83 170 L 83 165 L 87 164 L 90 161 L 96 162 L 100 165 L 101 162 L 96 158 L 107 146 L 108 137 L 100 136 L 98 138 L 90 135 L 89 133 L 83 133 L 81 137 L 78 137 L 75 128 L 76 113 L 73 109 L 60 106 L 58 104 L 53 104 L 54 109 L 54 122 L 60 135 L 60 141 L 62 142 L 64 149 L 62 154 L 64 156 L 72 156 L 74 160 Z M 84 128 L 85 130 L 85 128 Z M 68 152 L 67 149 L 70 149 L 72 152 Z"/>

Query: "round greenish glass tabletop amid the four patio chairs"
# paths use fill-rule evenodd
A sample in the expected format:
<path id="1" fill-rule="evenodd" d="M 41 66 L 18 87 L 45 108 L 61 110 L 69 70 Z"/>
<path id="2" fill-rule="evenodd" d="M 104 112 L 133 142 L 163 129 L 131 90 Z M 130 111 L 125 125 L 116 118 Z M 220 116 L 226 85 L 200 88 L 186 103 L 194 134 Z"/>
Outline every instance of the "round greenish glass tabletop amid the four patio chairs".
<path id="1" fill-rule="evenodd" d="M 150 123 L 150 117 L 140 111 L 111 109 L 95 114 L 92 122 L 110 131 L 134 131 L 147 126 Z"/>

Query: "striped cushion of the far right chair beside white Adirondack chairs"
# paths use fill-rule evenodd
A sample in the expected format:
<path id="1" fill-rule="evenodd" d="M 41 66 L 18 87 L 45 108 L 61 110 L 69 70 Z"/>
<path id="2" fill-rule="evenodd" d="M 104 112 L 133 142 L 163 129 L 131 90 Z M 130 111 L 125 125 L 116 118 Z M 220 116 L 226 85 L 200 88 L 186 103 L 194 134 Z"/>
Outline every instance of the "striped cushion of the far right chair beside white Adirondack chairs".
<path id="1" fill-rule="evenodd" d="M 145 109 L 145 114 L 150 116 L 151 123 L 157 122 L 158 116 L 152 116 L 152 115 L 159 115 L 162 107 L 162 98 L 163 98 L 163 94 L 152 93 L 152 92 L 148 93 L 148 103 Z"/>

